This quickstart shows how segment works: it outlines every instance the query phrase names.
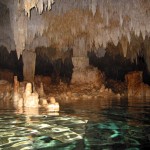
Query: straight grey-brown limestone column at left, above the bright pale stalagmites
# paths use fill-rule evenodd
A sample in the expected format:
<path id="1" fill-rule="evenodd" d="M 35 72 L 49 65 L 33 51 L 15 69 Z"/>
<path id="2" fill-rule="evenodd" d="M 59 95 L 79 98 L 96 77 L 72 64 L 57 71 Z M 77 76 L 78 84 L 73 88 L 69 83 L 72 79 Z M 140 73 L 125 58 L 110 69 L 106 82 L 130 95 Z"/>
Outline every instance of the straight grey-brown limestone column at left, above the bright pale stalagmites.
<path id="1" fill-rule="evenodd" d="M 36 53 L 32 51 L 24 51 L 22 59 L 24 80 L 32 82 L 35 75 Z"/>

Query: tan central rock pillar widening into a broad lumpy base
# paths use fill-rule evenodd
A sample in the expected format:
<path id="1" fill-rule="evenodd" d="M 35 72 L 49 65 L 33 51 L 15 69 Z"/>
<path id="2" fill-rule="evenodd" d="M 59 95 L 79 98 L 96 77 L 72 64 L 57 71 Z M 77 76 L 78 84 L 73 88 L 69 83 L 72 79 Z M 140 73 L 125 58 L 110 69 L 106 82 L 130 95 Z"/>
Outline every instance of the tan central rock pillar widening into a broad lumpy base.
<path id="1" fill-rule="evenodd" d="M 74 68 L 71 83 L 102 84 L 99 70 L 89 65 L 89 58 L 87 56 L 87 51 L 85 50 L 86 48 L 83 39 L 81 39 L 78 44 L 79 46 L 75 46 L 73 49 L 72 63 Z"/>

